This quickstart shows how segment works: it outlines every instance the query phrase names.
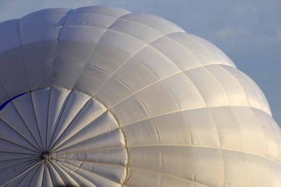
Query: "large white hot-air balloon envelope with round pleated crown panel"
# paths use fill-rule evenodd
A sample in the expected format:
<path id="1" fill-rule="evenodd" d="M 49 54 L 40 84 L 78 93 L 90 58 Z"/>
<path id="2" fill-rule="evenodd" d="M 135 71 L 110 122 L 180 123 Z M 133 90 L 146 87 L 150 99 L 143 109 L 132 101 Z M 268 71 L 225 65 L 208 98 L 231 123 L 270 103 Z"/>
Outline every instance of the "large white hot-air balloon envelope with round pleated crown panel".
<path id="1" fill-rule="evenodd" d="M 153 15 L 1 22 L 0 105 L 0 186 L 281 186 L 281 131 L 259 86 Z"/>

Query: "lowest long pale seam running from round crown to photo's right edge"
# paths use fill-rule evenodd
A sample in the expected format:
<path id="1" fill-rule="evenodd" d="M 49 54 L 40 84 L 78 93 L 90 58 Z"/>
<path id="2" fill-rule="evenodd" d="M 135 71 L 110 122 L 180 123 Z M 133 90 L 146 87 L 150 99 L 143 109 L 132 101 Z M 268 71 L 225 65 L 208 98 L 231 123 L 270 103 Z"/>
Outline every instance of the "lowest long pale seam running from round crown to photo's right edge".
<path id="1" fill-rule="evenodd" d="M 256 155 L 256 156 L 259 156 L 259 157 L 263 157 L 265 158 L 266 160 L 271 160 L 273 162 L 276 162 L 278 165 L 281 165 L 281 162 L 279 162 L 278 160 L 274 160 L 273 158 L 271 157 L 266 157 L 266 156 L 263 156 L 263 155 L 259 155 L 259 154 L 256 154 L 256 153 L 251 153 L 251 152 L 248 152 L 248 151 L 245 151 L 245 150 L 235 150 L 235 149 L 231 149 L 231 148 L 218 148 L 218 147 L 213 147 L 213 146 L 197 146 L 197 145 L 176 145 L 176 144 L 163 144 L 163 145 L 144 145 L 144 146 L 128 146 L 128 148 L 141 148 L 141 147 L 150 147 L 150 146 L 187 146 L 187 147 L 195 147 L 195 148 L 213 148 L 213 149 L 221 149 L 221 150 L 231 150 L 231 151 L 235 151 L 235 152 L 239 152 L 239 153 L 247 153 L 249 155 Z"/>

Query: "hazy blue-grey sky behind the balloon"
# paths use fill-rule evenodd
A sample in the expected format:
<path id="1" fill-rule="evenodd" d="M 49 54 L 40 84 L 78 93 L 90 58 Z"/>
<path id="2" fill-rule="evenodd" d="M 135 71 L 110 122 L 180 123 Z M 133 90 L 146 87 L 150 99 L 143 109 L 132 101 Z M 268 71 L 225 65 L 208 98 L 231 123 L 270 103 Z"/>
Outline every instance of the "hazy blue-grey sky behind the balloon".
<path id="1" fill-rule="evenodd" d="M 0 22 L 42 8 L 93 5 L 159 15 L 211 41 L 259 84 L 281 124 L 280 0 L 0 0 Z"/>

